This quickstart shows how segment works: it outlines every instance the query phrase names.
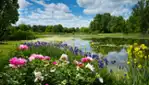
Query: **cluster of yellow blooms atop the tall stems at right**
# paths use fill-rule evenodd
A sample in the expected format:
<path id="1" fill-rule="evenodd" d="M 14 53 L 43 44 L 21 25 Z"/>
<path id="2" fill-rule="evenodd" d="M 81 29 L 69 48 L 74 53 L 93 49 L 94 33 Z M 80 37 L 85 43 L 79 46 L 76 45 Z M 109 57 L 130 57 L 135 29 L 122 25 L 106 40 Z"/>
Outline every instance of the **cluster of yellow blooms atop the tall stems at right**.
<path id="1" fill-rule="evenodd" d="M 137 43 L 134 43 L 134 45 L 131 45 L 128 49 L 128 64 L 133 64 L 133 66 L 137 68 L 142 68 L 142 66 L 145 66 L 145 61 L 148 59 L 148 49 L 147 46 L 144 44 L 138 45 Z"/>

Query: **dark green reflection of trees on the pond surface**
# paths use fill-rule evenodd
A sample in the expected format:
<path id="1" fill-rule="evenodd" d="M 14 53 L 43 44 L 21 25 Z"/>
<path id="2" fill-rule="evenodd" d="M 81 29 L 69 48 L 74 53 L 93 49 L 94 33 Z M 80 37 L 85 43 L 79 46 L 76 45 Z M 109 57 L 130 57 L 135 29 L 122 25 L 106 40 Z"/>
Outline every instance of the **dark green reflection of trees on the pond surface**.
<path id="1" fill-rule="evenodd" d="M 98 53 L 100 52 L 103 54 L 107 54 L 108 52 L 111 52 L 111 51 L 120 51 L 122 48 L 127 48 L 123 45 L 131 45 L 134 43 L 146 44 L 147 46 L 149 46 L 149 40 L 147 39 L 92 38 L 91 40 L 94 43 L 94 44 L 91 44 L 93 51 Z"/>

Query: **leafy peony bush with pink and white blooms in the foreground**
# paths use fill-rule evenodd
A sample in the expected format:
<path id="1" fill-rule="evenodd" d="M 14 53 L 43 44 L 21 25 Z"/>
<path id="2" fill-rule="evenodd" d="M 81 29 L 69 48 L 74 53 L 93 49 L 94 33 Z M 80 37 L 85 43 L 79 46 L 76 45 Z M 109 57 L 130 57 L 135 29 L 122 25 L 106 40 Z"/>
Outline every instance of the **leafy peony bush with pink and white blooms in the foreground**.
<path id="1" fill-rule="evenodd" d="M 30 50 L 30 47 L 27 47 Z M 35 50 L 36 48 L 34 48 Z M 24 48 L 21 51 L 26 51 Z M 32 49 L 33 50 L 33 49 Z M 46 50 L 44 50 L 46 51 Z M 44 53 L 43 53 L 44 54 Z M 9 67 L 0 73 L 0 84 L 4 85 L 92 85 L 107 84 L 99 61 L 90 56 L 70 60 L 62 54 L 59 58 L 32 53 L 29 57 L 13 57 Z M 104 60 L 100 61 L 102 65 Z M 106 67 L 105 67 L 106 68 Z M 108 72 L 107 72 L 108 73 Z M 109 77 L 107 77 L 109 78 Z M 111 82 L 108 82 L 111 83 Z"/>

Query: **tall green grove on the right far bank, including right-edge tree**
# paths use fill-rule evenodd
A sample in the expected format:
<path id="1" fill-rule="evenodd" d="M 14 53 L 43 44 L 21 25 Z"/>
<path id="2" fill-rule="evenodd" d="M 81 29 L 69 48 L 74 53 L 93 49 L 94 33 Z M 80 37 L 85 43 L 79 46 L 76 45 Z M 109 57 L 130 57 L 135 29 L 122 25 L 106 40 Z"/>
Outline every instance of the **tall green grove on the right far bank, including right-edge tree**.
<path id="1" fill-rule="evenodd" d="M 89 29 L 97 33 L 148 33 L 149 0 L 138 1 L 127 20 L 122 16 L 112 16 L 110 13 L 97 14 Z"/>

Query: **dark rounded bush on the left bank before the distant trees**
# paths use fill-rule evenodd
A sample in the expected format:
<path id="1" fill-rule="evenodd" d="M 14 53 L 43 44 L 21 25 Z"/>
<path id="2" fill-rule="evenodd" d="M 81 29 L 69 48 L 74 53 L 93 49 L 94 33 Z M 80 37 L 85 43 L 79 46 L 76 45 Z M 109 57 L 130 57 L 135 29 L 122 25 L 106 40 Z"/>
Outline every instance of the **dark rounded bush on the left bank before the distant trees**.
<path id="1" fill-rule="evenodd" d="M 30 40 L 35 39 L 35 35 L 31 31 L 16 31 L 11 34 L 8 40 Z"/>

